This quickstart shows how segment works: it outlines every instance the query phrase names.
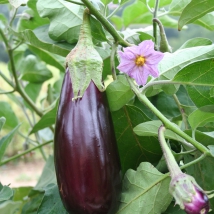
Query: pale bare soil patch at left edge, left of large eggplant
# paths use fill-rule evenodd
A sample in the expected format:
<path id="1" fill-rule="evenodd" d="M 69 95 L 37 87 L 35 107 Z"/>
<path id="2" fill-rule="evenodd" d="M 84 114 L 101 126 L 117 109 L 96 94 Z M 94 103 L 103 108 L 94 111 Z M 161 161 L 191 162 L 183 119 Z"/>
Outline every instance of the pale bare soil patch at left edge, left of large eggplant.
<path id="1" fill-rule="evenodd" d="M 0 182 L 10 187 L 35 186 L 44 165 L 42 160 L 6 164 L 0 167 Z"/>

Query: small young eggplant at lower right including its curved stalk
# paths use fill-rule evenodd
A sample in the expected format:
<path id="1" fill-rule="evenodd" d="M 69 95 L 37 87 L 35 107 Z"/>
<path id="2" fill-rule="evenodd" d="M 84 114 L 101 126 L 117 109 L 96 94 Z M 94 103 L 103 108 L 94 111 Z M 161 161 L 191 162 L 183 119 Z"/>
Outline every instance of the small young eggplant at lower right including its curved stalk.
<path id="1" fill-rule="evenodd" d="M 176 204 L 184 209 L 187 214 L 206 214 L 209 212 L 209 200 L 204 190 L 196 183 L 195 179 L 183 173 L 171 150 L 169 149 L 165 137 L 165 127 L 161 126 L 158 131 L 159 142 L 167 163 L 171 183 L 169 191 L 173 195 Z"/>

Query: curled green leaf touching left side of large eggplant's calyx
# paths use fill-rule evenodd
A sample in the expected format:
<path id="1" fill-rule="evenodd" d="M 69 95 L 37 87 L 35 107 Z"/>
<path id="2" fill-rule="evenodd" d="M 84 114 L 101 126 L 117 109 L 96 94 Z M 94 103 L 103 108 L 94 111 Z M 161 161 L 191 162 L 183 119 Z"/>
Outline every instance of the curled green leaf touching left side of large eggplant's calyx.
<path id="1" fill-rule="evenodd" d="M 27 44 L 34 47 L 44 49 L 48 52 L 58 54 L 60 56 L 67 56 L 74 45 L 66 42 L 56 42 L 48 36 L 48 25 L 36 28 L 35 30 L 25 30 L 20 33 Z"/>

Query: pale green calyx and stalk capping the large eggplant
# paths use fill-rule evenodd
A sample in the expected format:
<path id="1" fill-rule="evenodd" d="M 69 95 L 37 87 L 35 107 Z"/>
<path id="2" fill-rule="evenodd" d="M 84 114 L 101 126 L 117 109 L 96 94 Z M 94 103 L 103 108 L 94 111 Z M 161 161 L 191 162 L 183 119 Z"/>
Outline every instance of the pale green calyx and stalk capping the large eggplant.
<path id="1" fill-rule="evenodd" d="M 100 91 L 104 91 L 102 84 L 103 60 L 94 48 L 89 18 L 89 10 L 86 8 L 78 43 L 66 57 L 66 66 L 70 71 L 74 93 L 73 100 L 83 96 L 91 81 Z"/>

